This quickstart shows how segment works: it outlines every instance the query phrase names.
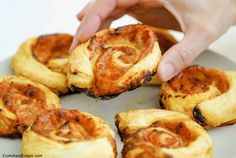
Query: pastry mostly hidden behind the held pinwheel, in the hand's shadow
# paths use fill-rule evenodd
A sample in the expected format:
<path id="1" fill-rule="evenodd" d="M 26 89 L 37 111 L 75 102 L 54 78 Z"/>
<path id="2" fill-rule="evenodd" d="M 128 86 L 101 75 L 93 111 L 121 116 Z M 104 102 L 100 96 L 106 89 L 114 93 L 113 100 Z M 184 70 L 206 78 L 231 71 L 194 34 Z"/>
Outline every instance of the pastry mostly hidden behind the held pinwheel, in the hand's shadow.
<path id="1" fill-rule="evenodd" d="M 149 28 L 156 34 L 162 55 L 173 45 L 177 43 L 177 40 L 168 32 L 168 30 L 160 29 L 156 27 L 149 26 Z M 159 86 L 161 81 L 158 79 L 157 75 L 152 77 L 152 80 L 148 83 L 150 86 Z"/>

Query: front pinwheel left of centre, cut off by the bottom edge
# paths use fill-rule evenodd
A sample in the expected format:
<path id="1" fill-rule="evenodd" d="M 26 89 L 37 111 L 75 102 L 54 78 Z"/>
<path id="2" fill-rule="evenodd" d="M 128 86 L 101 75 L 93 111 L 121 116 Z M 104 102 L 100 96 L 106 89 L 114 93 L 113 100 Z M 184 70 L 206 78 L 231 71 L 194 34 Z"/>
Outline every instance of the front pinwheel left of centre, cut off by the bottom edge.
<path id="1" fill-rule="evenodd" d="M 22 139 L 24 155 L 44 158 L 114 158 L 114 133 L 100 118 L 77 110 L 55 109 L 39 116 Z"/>

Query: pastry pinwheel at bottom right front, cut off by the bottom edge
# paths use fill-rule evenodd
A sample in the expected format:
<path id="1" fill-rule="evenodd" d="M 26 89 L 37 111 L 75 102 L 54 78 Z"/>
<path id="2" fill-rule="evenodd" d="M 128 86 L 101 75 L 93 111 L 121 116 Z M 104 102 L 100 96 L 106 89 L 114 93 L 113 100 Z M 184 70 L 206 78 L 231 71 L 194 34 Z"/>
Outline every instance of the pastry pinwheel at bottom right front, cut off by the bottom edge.
<path id="1" fill-rule="evenodd" d="M 123 158 L 211 158 L 206 131 L 187 116 L 161 109 L 122 112 L 116 125 Z"/>

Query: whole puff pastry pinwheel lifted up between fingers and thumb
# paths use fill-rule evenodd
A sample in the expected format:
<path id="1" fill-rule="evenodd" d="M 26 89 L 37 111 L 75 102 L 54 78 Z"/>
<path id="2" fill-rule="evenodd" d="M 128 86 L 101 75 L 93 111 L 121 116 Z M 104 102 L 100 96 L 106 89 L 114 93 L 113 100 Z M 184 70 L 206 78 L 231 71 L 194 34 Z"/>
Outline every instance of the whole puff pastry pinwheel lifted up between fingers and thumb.
<path id="1" fill-rule="evenodd" d="M 147 26 L 105 29 L 72 51 L 69 86 L 109 99 L 150 81 L 160 58 L 156 36 Z"/>

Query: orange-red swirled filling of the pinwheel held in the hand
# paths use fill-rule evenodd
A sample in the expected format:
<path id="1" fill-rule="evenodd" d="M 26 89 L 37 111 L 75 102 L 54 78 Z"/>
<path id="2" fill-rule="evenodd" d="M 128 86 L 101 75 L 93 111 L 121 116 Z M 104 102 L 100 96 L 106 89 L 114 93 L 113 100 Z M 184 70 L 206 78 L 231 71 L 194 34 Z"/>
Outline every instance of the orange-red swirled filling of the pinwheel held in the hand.
<path id="1" fill-rule="evenodd" d="M 94 36 L 88 46 L 91 60 L 93 54 L 100 54 L 93 69 L 94 95 L 102 96 L 123 91 L 114 84 L 115 81 L 150 53 L 154 42 L 155 34 L 142 25 L 120 27 Z"/>

